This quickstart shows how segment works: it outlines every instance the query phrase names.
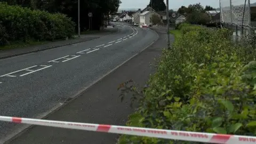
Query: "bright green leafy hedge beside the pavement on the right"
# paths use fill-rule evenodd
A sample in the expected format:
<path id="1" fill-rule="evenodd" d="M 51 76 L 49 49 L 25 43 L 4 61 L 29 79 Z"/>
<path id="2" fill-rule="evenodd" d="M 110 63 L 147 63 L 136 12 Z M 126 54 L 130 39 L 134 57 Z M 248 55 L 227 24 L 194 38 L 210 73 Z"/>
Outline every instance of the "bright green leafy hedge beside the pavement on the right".
<path id="1" fill-rule="evenodd" d="M 131 82 L 119 87 L 122 99 L 132 92 L 132 102 L 139 101 L 127 125 L 255 136 L 255 47 L 234 45 L 227 29 L 179 29 L 142 91 Z M 193 142 L 122 135 L 119 143 Z"/>

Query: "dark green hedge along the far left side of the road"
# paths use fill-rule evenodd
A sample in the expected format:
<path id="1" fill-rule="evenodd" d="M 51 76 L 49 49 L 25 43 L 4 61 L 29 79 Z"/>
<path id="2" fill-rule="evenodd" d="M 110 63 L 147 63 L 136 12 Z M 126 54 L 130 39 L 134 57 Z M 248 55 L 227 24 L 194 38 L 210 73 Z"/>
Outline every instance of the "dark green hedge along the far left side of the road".
<path id="1" fill-rule="evenodd" d="M 54 40 L 71 37 L 75 23 L 66 15 L 0 3 L 0 45 L 13 41 Z"/>

